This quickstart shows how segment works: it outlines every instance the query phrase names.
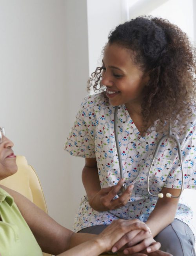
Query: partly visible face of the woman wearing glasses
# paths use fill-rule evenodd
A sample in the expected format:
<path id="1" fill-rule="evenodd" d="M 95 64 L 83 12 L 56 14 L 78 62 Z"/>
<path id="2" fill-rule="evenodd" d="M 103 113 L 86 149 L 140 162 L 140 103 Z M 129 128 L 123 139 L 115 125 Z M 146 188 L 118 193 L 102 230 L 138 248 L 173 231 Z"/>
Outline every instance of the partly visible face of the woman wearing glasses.
<path id="1" fill-rule="evenodd" d="M 16 173 L 16 156 L 12 150 L 13 142 L 2 135 L 0 143 L 0 180 Z"/>

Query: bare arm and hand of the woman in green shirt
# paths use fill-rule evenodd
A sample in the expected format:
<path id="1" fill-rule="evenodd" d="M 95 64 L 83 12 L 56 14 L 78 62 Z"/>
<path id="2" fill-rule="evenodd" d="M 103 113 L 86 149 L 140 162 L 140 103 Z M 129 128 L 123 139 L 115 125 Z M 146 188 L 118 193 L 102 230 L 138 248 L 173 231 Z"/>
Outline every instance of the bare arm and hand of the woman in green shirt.
<path id="1" fill-rule="evenodd" d="M 31 228 L 31 231 L 33 232 L 42 251 L 50 254 L 60 254 L 62 256 L 78 255 L 78 253 L 80 256 L 99 255 L 104 251 L 111 250 L 114 243 L 119 239 L 122 239 L 122 244 L 125 245 L 128 239 L 127 234 L 132 230 L 139 229 L 148 232 L 147 225 L 141 221 L 118 220 L 113 221 L 113 223 L 98 236 L 74 233 L 56 223 L 56 221 L 49 217 L 44 211 L 40 210 L 40 208 L 21 194 L 6 187 L 4 187 L 4 189 L 14 198 L 15 203 L 17 204 L 25 221 Z M 141 238 L 141 241 L 143 239 L 144 238 Z M 154 242 L 153 238 L 151 243 L 152 242 Z M 159 243 L 153 243 L 153 245 L 151 245 L 151 243 L 145 246 L 145 248 L 151 246 L 152 250 L 159 249 Z M 81 245 L 73 248 L 79 244 Z M 138 251 L 143 249 L 144 248 L 141 243 L 141 249 L 139 248 Z"/>

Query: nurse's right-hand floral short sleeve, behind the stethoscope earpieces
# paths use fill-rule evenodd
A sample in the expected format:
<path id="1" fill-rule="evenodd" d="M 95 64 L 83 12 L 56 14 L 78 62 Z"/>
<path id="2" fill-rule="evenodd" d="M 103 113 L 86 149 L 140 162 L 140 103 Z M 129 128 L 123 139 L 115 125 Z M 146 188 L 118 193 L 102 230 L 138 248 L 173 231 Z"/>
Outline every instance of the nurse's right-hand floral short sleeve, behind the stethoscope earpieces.
<path id="1" fill-rule="evenodd" d="M 186 137 L 181 143 L 182 166 L 183 166 L 183 188 L 196 189 L 196 126 L 195 121 L 189 123 Z M 177 148 L 173 148 L 176 150 Z M 181 188 L 182 171 L 179 158 L 172 166 L 171 172 L 165 182 L 165 187 Z"/>

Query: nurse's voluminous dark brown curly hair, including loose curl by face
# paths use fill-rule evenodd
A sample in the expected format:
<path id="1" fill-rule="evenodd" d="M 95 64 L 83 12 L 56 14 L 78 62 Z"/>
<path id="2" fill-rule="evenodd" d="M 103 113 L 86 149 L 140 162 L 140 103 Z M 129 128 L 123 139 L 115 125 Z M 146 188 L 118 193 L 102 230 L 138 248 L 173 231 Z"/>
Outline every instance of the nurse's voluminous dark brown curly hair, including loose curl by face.
<path id="1" fill-rule="evenodd" d="M 196 108 L 196 49 L 186 33 L 168 20 L 144 16 L 120 24 L 108 39 L 132 50 L 136 65 L 149 74 L 142 91 L 143 132 L 155 121 L 161 130 L 168 121 L 186 124 Z M 88 89 L 103 91 L 101 80 L 102 67 L 97 67 Z"/>

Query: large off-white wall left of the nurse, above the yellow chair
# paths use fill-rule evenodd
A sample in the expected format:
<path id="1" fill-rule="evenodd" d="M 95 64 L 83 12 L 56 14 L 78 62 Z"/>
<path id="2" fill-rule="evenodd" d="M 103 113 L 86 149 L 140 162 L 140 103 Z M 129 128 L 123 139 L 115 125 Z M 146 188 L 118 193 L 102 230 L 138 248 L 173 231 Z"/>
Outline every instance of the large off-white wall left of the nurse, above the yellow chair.
<path id="1" fill-rule="evenodd" d="M 50 215 L 69 228 L 82 159 L 63 146 L 88 75 L 85 0 L 0 0 L 0 125 L 36 169 Z"/>

